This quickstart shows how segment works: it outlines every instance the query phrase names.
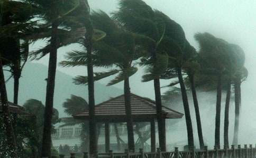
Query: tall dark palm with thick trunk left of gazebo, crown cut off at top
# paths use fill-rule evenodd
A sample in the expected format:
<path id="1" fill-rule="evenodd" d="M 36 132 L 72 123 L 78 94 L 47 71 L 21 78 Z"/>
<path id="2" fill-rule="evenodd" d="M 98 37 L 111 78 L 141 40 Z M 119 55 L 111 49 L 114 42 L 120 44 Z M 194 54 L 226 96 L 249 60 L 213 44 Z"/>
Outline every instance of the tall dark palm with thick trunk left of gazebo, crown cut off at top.
<path id="1" fill-rule="evenodd" d="M 54 96 L 54 85 L 56 76 L 57 66 L 57 49 L 60 45 L 60 31 L 58 27 L 64 24 L 69 14 L 77 8 L 77 1 L 38 1 L 38 0 L 27 0 L 28 3 L 38 7 L 40 12 L 38 13 L 42 19 L 47 23 L 44 24 L 43 28 L 49 28 L 50 31 L 50 44 L 44 47 L 39 52 L 44 55 L 49 52 L 49 69 L 48 69 L 48 80 L 47 90 L 45 98 L 45 113 L 44 113 L 44 132 L 42 140 L 42 156 L 51 156 L 51 118 L 53 111 L 53 96 Z M 63 5 L 65 4 L 65 5 Z"/>

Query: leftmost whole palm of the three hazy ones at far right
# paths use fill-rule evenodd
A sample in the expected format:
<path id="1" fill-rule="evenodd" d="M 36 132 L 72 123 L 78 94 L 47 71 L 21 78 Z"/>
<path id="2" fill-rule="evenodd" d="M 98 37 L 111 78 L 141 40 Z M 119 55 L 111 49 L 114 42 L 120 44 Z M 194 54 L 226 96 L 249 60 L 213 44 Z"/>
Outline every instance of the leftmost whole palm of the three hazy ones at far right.
<path id="1" fill-rule="evenodd" d="M 198 33 L 195 38 L 200 45 L 199 57 L 203 68 L 202 72 L 215 75 L 217 78 L 215 146 L 220 148 L 222 83 L 226 69 L 231 67 L 230 58 L 232 52 L 227 42 L 209 33 Z"/>

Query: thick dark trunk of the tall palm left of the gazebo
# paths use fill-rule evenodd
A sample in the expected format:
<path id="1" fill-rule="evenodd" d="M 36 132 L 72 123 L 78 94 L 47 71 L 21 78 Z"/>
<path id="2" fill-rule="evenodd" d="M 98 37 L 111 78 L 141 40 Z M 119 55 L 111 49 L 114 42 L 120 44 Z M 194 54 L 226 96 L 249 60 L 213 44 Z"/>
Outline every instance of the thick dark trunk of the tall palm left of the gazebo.
<path id="1" fill-rule="evenodd" d="M 56 2 L 51 1 L 52 19 L 58 15 Z M 53 97 L 55 76 L 57 67 L 57 30 L 58 23 L 53 22 L 51 28 L 51 50 L 49 57 L 47 89 L 45 98 L 44 109 L 44 126 L 43 126 L 43 139 L 42 139 L 42 157 L 51 157 L 51 119 L 53 114 Z"/>

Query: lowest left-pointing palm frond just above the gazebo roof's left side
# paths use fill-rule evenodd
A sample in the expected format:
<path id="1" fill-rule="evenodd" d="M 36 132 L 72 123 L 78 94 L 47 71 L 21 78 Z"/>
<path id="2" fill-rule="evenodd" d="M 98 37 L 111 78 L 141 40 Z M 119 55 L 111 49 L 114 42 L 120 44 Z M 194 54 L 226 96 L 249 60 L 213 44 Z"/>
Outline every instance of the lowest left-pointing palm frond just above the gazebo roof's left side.
<path id="1" fill-rule="evenodd" d="M 94 73 L 94 81 L 99 81 L 103 78 L 106 78 L 108 76 L 114 75 L 116 73 L 120 72 L 120 70 L 112 70 L 109 72 L 99 72 L 99 73 Z M 87 76 L 76 76 L 75 78 L 73 78 L 73 83 L 75 84 L 88 84 L 88 77 Z"/>

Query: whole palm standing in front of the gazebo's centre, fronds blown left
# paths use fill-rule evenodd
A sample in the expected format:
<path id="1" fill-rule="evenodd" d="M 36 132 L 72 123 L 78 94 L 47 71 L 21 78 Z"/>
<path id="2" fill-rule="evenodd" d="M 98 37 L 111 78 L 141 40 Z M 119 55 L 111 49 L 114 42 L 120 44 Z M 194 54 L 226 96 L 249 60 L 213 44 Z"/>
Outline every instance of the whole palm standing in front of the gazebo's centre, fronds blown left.
<path id="1" fill-rule="evenodd" d="M 142 37 L 127 31 L 118 23 L 118 21 L 115 21 L 102 11 L 92 13 L 92 21 L 95 29 L 99 29 L 106 33 L 106 36 L 102 40 L 93 43 L 93 64 L 101 67 L 115 67 L 114 70 L 109 72 L 95 73 L 94 81 L 117 73 L 118 75 L 114 80 L 107 85 L 114 85 L 124 81 L 128 145 L 129 149 L 134 151 L 129 77 L 138 70 L 134 67 L 133 61 L 140 57 L 135 46 L 136 42 Z M 64 66 L 76 66 L 80 65 L 81 62 L 87 64 L 87 56 L 85 52 L 71 52 L 67 57 L 69 61 L 62 62 L 62 65 Z M 75 78 L 76 84 L 87 84 L 88 81 L 88 77 L 85 76 L 77 76 Z"/>

